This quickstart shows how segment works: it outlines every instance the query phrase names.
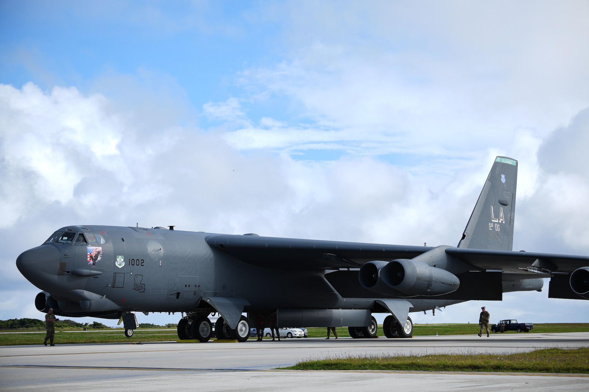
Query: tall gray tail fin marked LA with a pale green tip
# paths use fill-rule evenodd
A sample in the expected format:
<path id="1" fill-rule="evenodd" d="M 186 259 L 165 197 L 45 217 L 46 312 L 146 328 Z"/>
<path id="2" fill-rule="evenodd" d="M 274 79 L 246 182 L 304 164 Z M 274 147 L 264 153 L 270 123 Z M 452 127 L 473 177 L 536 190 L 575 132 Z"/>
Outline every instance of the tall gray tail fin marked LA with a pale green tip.
<path id="1" fill-rule="evenodd" d="M 512 250 L 518 162 L 497 157 L 466 224 L 459 248 Z"/>

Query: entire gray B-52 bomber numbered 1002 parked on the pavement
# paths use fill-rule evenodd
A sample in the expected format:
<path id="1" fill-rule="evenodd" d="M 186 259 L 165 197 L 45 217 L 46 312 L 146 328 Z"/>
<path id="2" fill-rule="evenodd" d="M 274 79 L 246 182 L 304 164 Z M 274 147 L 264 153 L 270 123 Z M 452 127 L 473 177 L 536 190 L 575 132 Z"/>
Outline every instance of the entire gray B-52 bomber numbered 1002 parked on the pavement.
<path id="1" fill-rule="evenodd" d="M 348 327 L 375 337 L 372 313 L 389 313 L 386 337 L 411 337 L 410 312 L 542 289 L 589 299 L 589 257 L 512 251 L 518 162 L 497 157 L 458 246 L 421 247 L 72 225 L 16 259 L 42 290 L 39 311 L 123 321 L 177 312 L 180 339 L 246 341 L 260 315 L 279 327 Z M 247 316 L 244 316 L 246 313 Z M 184 315 L 186 314 L 186 315 Z"/>

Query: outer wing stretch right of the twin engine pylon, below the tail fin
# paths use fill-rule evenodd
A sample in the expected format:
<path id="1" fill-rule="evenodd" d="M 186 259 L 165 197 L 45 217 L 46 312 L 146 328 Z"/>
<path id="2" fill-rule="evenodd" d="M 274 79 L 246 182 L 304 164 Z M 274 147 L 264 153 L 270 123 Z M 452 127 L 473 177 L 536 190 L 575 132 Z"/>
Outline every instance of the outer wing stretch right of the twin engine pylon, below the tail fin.
<path id="1" fill-rule="evenodd" d="M 570 273 L 577 268 L 589 265 L 589 256 L 568 254 L 466 248 L 448 248 L 446 254 L 452 255 L 473 267 L 485 270 L 519 271 L 519 273 L 522 273 L 519 268 L 527 268 L 532 264 L 544 270 L 562 273 Z"/>

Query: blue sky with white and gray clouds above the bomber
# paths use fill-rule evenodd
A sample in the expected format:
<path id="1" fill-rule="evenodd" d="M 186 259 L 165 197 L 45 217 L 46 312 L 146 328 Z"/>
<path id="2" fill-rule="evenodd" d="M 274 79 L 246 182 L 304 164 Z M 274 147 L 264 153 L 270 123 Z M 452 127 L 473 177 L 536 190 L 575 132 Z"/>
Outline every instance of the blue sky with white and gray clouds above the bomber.
<path id="1" fill-rule="evenodd" d="M 589 254 L 588 15 L 583 1 L 1 2 L 0 318 L 39 317 L 14 260 L 68 224 L 455 245 L 496 155 L 520 164 L 514 249 Z M 589 322 L 581 301 L 546 297 L 494 306 Z"/>

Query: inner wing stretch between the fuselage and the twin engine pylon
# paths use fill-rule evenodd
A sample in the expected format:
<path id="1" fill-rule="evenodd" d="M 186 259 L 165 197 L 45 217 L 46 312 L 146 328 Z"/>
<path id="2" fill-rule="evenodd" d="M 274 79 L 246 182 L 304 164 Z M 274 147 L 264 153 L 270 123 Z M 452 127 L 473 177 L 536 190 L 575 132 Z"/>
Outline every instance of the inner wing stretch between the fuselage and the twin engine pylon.
<path id="1" fill-rule="evenodd" d="M 229 254 L 244 263 L 260 267 L 293 269 L 359 268 L 368 261 L 413 258 L 432 249 L 432 247 L 408 245 L 230 234 L 211 235 L 206 241 L 211 248 Z"/>

